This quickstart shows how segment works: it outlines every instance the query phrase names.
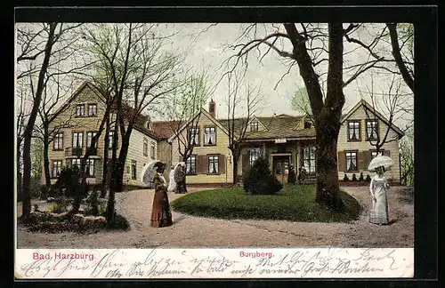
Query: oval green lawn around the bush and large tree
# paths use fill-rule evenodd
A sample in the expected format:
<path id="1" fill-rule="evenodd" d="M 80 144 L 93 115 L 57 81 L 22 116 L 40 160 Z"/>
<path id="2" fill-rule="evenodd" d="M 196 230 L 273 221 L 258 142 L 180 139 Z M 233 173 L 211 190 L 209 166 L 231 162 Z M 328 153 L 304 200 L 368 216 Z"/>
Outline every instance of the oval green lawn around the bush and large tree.
<path id="1" fill-rule="evenodd" d="M 342 193 L 343 212 L 315 203 L 314 185 L 285 186 L 278 195 L 248 195 L 242 188 L 198 191 L 174 200 L 172 209 L 195 216 L 220 219 L 291 220 L 298 222 L 349 222 L 357 220 L 362 207 Z"/>

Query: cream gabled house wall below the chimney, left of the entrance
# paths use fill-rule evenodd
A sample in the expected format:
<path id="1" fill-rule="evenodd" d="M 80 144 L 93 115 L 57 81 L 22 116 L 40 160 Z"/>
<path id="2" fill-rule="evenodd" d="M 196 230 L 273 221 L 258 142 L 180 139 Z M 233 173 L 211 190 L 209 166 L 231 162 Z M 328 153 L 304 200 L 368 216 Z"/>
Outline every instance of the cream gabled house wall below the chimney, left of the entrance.
<path id="1" fill-rule="evenodd" d="M 205 126 L 215 126 L 216 132 L 216 145 L 214 146 L 204 146 L 204 127 Z M 209 154 L 219 154 L 224 157 L 225 169 L 224 172 L 221 172 L 217 175 L 209 175 L 206 173 L 198 173 L 197 175 L 188 175 L 187 183 L 195 184 L 195 183 L 231 183 L 232 182 L 232 163 L 231 163 L 231 151 L 229 148 L 229 136 L 223 132 L 223 130 L 215 125 L 204 113 L 201 114 L 198 121 L 199 127 L 199 145 L 193 148 L 192 155 L 197 156 L 206 156 Z M 182 131 L 182 137 L 185 139 L 186 135 L 185 129 Z M 182 147 L 183 151 L 183 147 Z M 175 165 L 180 162 L 181 154 L 179 153 L 179 143 L 175 138 L 172 141 L 172 164 Z"/>

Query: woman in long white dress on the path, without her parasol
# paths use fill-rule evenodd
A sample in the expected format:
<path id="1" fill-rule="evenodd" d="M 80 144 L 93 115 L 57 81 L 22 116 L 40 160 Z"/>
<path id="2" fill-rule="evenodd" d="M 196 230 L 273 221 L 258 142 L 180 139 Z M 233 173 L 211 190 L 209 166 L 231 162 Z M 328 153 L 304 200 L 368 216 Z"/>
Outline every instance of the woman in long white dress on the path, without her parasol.
<path id="1" fill-rule="evenodd" d="M 388 199 L 386 196 L 386 189 L 389 188 L 389 184 L 383 176 L 384 166 L 376 168 L 376 173 L 369 185 L 369 192 L 372 197 L 369 222 L 384 225 L 389 223 Z"/>

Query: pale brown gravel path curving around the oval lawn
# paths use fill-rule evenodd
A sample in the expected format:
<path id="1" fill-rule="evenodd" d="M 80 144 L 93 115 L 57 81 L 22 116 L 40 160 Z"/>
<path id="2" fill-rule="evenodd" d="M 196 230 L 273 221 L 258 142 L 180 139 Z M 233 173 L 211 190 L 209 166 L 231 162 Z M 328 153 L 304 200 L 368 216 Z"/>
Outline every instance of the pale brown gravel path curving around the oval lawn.
<path id="1" fill-rule="evenodd" d="M 150 228 L 153 190 L 117 194 L 117 212 L 130 221 L 131 230 L 76 233 L 29 233 L 18 228 L 19 248 L 179 248 L 179 247 L 413 247 L 414 205 L 402 202 L 400 188 L 388 193 L 391 225 L 368 223 L 368 188 L 344 188 L 365 207 L 352 223 L 306 223 L 286 220 L 217 220 L 173 212 L 174 225 Z M 190 192 L 203 190 L 191 188 Z M 169 193 L 169 200 L 178 196 Z"/>

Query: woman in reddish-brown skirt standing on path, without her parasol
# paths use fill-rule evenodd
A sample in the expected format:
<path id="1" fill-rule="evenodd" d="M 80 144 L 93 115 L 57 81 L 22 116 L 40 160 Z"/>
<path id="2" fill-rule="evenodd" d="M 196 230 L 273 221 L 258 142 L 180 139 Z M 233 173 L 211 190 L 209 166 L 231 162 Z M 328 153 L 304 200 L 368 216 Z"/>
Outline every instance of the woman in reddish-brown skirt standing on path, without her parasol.
<path id="1" fill-rule="evenodd" d="M 154 169 L 156 169 L 157 173 L 153 178 L 155 196 L 153 198 L 153 208 L 151 209 L 150 225 L 154 228 L 172 226 L 172 212 L 170 211 L 166 193 L 166 180 L 162 174 L 166 170 L 166 164 L 158 162 L 154 165 Z"/>

